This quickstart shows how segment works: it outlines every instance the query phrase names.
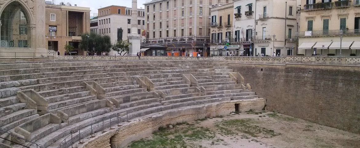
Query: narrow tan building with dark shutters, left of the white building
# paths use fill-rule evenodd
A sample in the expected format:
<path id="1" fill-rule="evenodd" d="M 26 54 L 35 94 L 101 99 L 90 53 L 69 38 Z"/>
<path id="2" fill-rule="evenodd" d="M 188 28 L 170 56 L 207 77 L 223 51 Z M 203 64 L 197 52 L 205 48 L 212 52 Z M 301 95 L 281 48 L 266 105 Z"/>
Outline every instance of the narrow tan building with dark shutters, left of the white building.
<path id="1" fill-rule="evenodd" d="M 221 5 L 217 4 L 211 8 L 211 56 L 236 55 L 239 51 L 238 45 L 227 45 L 224 49 L 225 43 L 231 41 L 234 30 L 234 3 Z M 230 51 L 230 52 L 229 52 Z M 235 53 L 237 52 L 237 53 Z"/>

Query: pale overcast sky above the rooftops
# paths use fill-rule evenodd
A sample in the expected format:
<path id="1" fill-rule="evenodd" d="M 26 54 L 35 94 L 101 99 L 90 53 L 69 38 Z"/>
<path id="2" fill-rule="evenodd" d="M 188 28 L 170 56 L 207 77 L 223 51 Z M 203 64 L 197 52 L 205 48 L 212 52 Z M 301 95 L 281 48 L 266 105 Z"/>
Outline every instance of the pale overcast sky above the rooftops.
<path id="1" fill-rule="evenodd" d="M 52 1 L 52 0 L 46 0 Z M 127 6 L 131 8 L 132 0 L 54 0 L 55 4 L 60 4 L 60 2 L 70 3 L 72 6 L 77 4 L 77 6 L 81 7 L 89 7 L 91 9 L 90 16 L 94 16 L 94 13 L 98 13 L 98 9 L 105 6 L 110 5 L 119 5 L 119 6 Z M 143 7 L 144 3 L 147 0 L 138 0 L 138 8 Z"/>

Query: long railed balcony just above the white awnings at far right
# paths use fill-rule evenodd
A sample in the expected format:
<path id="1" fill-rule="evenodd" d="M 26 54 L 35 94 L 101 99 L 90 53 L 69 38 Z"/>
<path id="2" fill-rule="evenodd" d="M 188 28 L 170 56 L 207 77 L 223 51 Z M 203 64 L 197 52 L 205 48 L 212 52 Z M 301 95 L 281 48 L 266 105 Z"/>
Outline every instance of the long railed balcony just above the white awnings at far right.
<path id="1" fill-rule="evenodd" d="M 340 35 L 340 30 L 318 30 L 295 32 L 295 36 L 330 36 Z M 360 29 L 344 29 L 343 35 L 360 35 Z"/>

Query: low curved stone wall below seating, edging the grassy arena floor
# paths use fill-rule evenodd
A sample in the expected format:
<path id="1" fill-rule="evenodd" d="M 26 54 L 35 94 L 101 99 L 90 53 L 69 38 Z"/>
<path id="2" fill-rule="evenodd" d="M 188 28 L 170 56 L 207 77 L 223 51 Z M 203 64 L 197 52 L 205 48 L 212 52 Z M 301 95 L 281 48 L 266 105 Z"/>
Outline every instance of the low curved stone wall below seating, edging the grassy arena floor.
<path id="1" fill-rule="evenodd" d="M 135 140 L 149 136 L 149 134 L 156 131 L 160 126 L 229 114 L 230 112 L 235 111 L 235 104 L 239 104 L 239 109 L 242 112 L 249 109 L 262 110 L 265 105 L 265 100 L 258 98 L 225 101 L 212 104 L 188 106 L 156 114 L 150 114 L 145 117 L 135 118 L 132 122 L 125 123 L 126 125 L 121 126 L 118 129 L 110 130 L 102 135 L 96 136 L 95 138 L 87 141 L 85 144 L 79 145 L 78 148 L 126 147 L 129 143 Z"/>

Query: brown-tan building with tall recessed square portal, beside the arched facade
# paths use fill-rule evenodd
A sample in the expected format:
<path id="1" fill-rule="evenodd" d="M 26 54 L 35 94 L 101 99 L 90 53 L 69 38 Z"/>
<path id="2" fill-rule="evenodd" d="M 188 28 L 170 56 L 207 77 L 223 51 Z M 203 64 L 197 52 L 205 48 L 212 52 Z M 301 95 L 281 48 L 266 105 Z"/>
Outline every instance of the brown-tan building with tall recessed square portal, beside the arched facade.
<path id="1" fill-rule="evenodd" d="M 48 49 L 65 53 L 65 45 L 71 45 L 71 55 L 86 55 L 86 51 L 79 48 L 81 35 L 90 31 L 90 8 L 72 6 L 71 4 L 45 5 L 46 41 Z"/>

